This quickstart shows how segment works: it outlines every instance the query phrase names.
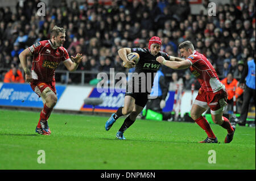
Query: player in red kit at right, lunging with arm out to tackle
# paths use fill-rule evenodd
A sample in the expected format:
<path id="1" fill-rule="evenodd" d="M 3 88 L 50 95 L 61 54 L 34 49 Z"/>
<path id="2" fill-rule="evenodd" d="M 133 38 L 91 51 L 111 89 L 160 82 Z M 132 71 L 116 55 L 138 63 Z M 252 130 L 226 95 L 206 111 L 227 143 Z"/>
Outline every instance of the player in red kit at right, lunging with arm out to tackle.
<path id="1" fill-rule="evenodd" d="M 200 89 L 196 100 L 192 105 L 191 117 L 207 133 L 207 138 L 203 143 L 217 143 L 218 140 L 214 135 L 208 121 L 202 116 L 202 113 L 210 108 L 212 120 L 215 124 L 221 125 L 228 131 L 225 143 L 233 140 L 236 127 L 232 127 L 229 120 L 222 116 L 224 107 L 227 105 L 227 92 L 225 86 L 218 79 L 218 75 L 212 64 L 201 53 L 197 52 L 190 41 L 184 41 L 179 45 L 180 54 L 185 60 L 171 56 L 171 61 L 164 57 L 157 57 L 156 61 L 172 69 L 189 68 L 192 74 L 200 82 Z"/>

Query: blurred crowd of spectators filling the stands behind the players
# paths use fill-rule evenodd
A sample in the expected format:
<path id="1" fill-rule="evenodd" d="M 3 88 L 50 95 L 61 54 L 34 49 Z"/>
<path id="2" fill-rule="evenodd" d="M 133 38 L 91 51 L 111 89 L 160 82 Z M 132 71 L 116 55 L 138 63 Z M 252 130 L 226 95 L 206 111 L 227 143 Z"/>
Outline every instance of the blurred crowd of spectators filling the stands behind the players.
<path id="1" fill-rule="evenodd" d="M 98 72 L 115 68 L 116 72 L 127 71 L 117 50 L 122 47 L 145 48 L 151 36 L 159 36 L 162 50 L 174 56 L 179 53 L 179 43 L 192 41 L 195 49 L 212 62 L 221 79 L 232 73 L 233 78 L 239 80 L 246 61 L 254 58 L 253 0 L 218 4 L 216 16 L 208 15 L 208 0 L 203 1 L 198 15 L 191 14 L 191 7 L 185 0 L 180 3 L 175 0 L 115 0 L 110 6 L 60 0 L 47 6 L 46 16 L 38 16 L 39 2 L 18 1 L 15 11 L 10 7 L 0 8 L 0 68 L 18 66 L 18 54 L 36 41 L 49 39 L 54 25 L 66 28 L 64 47 L 69 55 L 83 54 L 77 70 Z M 31 60 L 28 60 L 30 66 Z M 58 69 L 65 70 L 65 67 Z M 162 71 L 164 74 L 174 72 L 168 68 Z M 5 74 L 2 70 L 0 81 Z M 189 83 L 196 83 L 188 73 L 177 71 L 177 74 L 183 78 L 187 89 L 191 87 Z M 96 75 L 86 77 L 85 81 L 94 77 Z M 76 82 L 75 77 L 71 81 Z"/>

